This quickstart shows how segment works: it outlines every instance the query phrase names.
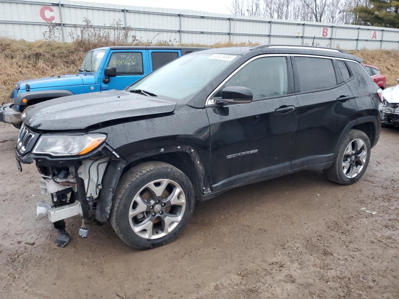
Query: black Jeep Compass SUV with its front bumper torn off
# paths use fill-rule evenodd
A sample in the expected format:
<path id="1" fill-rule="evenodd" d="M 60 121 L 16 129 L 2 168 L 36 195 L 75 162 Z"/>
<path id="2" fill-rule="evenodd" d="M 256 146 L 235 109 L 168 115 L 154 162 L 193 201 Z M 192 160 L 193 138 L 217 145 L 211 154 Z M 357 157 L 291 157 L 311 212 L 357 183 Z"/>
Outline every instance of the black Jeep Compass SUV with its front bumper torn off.
<path id="1" fill-rule="evenodd" d="M 111 79 L 112 80 L 112 79 Z M 304 169 L 350 185 L 381 127 L 381 90 L 339 49 L 196 51 L 110 90 L 28 107 L 17 166 L 36 162 L 56 243 L 64 219 L 110 220 L 134 248 L 174 240 L 196 200 Z M 79 231 L 87 236 L 84 224 Z"/>

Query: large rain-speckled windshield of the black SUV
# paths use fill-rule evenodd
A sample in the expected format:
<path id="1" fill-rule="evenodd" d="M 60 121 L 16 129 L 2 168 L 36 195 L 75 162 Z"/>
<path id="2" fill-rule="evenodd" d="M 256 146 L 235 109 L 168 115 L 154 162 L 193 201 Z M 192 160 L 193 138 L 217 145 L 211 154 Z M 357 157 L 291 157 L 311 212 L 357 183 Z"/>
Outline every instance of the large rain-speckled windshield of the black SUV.
<path id="1" fill-rule="evenodd" d="M 140 89 L 181 100 L 198 92 L 225 69 L 237 55 L 190 54 L 157 69 L 126 91 Z"/>

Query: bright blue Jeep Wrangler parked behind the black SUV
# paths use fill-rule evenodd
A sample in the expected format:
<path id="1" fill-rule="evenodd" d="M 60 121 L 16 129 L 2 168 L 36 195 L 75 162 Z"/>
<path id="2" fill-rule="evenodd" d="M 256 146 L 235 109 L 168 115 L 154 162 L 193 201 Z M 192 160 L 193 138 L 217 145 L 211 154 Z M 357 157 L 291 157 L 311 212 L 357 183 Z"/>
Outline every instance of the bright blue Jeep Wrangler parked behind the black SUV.
<path id="1" fill-rule="evenodd" d="M 0 106 L 0 121 L 20 128 L 20 116 L 38 102 L 100 90 L 124 89 L 158 67 L 199 47 L 105 47 L 87 52 L 77 75 L 17 82 L 12 104 Z"/>

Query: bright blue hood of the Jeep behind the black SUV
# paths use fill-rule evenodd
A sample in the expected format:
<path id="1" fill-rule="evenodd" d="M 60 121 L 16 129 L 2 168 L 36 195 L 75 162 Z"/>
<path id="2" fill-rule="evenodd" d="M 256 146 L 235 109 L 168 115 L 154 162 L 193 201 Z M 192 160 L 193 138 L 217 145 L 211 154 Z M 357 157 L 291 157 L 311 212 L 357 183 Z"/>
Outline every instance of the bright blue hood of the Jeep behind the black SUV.
<path id="1" fill-rule="evenodd" d="M 94 82 L 95 80 L 93 75 L 84 76 L 83 74 L 79 74 L 79 75 L 62 75 L 62 76 L 53 76 L 53 77 L 46 77 L 40 79 L 25 80 L 25 81 L 19 81 L 17 82 L 17 84 L 20 85 L 21 90 L 26 89 L 26 84 L 29 84 L 30 89 L 82 85 L 83 77 L 90 77 L 92 82 Z M 91 83 L 86 83 L 86 84 L 91 84 Z"/>

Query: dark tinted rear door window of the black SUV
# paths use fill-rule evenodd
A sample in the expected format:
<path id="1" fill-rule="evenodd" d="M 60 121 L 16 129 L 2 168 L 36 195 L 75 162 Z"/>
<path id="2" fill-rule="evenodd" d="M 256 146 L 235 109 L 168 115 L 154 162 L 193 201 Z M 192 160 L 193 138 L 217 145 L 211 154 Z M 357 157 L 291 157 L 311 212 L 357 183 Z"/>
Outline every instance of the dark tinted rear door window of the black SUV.
<path id="1" fill-rule="evenodd" d="M 331 59 L 294 57 L 296 67 L 295 91 L 304 92 L 330 88 L 337 85 Z"/>

